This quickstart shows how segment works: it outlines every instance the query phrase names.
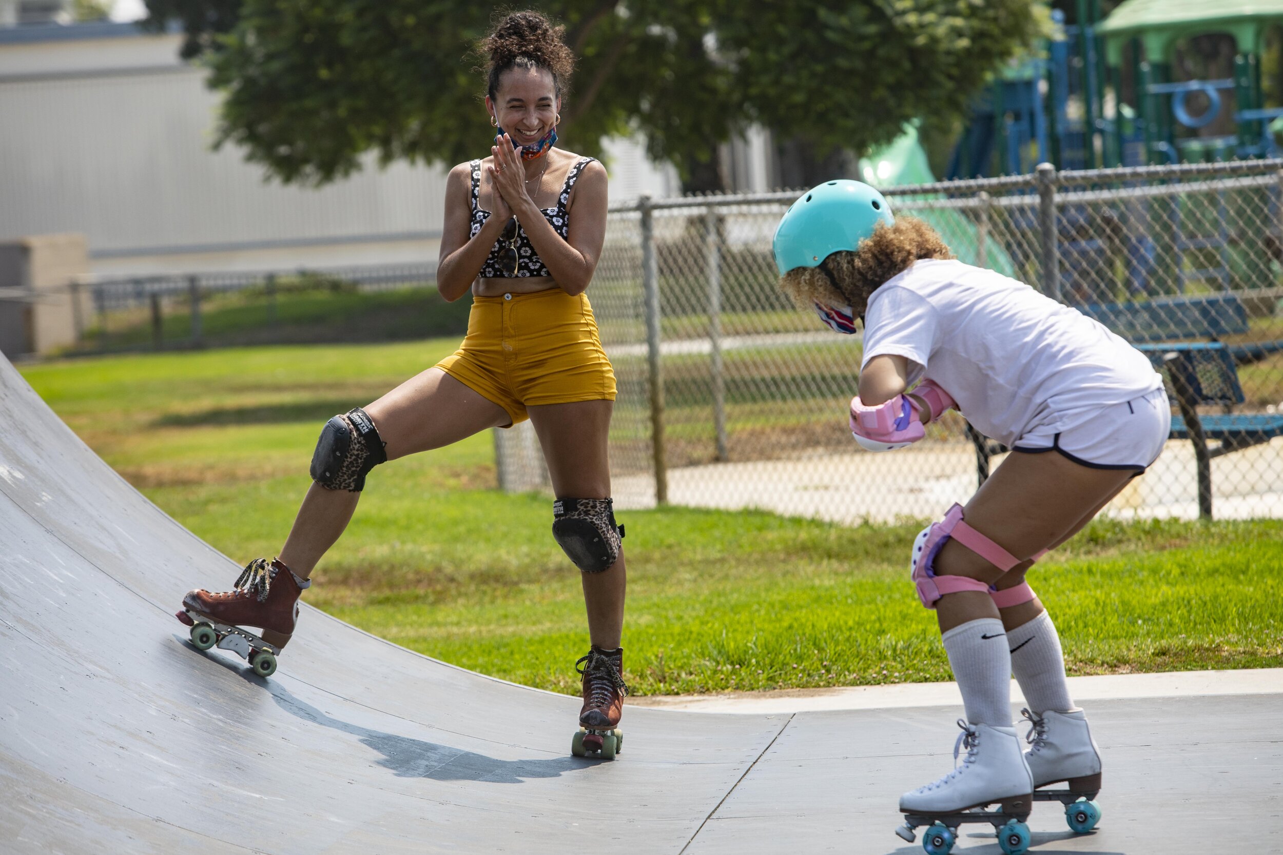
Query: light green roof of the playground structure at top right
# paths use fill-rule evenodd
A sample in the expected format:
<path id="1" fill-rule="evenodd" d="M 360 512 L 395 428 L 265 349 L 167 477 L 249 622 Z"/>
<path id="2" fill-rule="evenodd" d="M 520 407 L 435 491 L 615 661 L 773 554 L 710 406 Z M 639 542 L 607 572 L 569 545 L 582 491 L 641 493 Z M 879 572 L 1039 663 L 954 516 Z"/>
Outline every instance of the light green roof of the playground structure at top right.
<path id="1" fill-rule="evenodd" d="M 1139 37 L 1151 62 L 1165 62 L 1178 38 L 1228 32 L 1238 50 L 1260 50 L 1261 31 L 1283 22 L 1283 0 L 1126 0 L 1096 27 L 1105 37 L 1110 64 L 1123 41 Z"/>

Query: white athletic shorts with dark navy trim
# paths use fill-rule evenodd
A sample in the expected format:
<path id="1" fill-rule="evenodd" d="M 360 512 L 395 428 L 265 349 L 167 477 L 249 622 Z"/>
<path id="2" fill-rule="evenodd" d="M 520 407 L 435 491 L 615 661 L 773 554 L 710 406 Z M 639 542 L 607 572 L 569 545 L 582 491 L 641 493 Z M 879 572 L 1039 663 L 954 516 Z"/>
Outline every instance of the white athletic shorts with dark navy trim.
<path id="1" fill-rule="evenodd" d="M 1159 459 L 1171 431 L 1171 404 L 1162 388 L 1123 404 L 1058 414 L 1052 427 L 1035 427 L 1012 451 L 1062 455 L 1093 469 L 1132 469 L 1141 474 Z"/>

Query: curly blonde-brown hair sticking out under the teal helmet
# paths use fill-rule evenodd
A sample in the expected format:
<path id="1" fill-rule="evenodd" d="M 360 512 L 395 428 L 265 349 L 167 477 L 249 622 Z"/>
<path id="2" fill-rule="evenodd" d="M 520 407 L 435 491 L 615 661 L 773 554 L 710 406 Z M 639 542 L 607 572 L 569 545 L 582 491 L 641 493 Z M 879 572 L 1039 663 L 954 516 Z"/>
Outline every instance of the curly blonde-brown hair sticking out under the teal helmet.
<path id="1" fill-rule="evenodd" d="M 916 217 L 899 217 L 894 226 L 878 223 L 854 253 L 839 250 L 824 260 L 835 282 L 817 267 L 795 267 L 780 277 L 780 290 L 802 309 L 812 303 L 849 305 L 862 315 L 874 291 L 926 258 L 952 259 L 953 253 L 934 228 Z"/>

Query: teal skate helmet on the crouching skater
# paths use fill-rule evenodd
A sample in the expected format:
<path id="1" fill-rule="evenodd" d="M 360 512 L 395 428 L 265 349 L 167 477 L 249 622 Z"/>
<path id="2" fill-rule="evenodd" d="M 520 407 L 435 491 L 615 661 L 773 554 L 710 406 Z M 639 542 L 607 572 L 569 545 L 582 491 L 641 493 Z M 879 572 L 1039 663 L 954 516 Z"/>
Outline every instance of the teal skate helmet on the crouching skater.
<path id="1" fill-rule="evenodd" d="M 820 267 L 829 254 L 853 251 L 878 223 L 893 226 L 890 206 L 862 181 L 826 181 L 784 212 L 771 247 L 784 276 L 795 267 Z"/>

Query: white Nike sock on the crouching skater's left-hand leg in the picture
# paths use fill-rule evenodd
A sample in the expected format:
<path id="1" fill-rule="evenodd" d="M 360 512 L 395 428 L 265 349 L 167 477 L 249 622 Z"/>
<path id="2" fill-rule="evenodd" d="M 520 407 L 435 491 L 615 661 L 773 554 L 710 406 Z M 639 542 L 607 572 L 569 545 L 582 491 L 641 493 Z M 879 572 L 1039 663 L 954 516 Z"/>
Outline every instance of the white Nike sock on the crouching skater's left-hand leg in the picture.
<path id="1" fill-rule="evenodd" d="M 967 720 L 1011 727 L 1011 652 L 1002 620 L 969 620 L 942 638 L 962 692 Z"/>

